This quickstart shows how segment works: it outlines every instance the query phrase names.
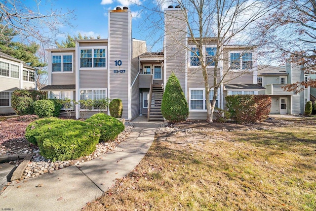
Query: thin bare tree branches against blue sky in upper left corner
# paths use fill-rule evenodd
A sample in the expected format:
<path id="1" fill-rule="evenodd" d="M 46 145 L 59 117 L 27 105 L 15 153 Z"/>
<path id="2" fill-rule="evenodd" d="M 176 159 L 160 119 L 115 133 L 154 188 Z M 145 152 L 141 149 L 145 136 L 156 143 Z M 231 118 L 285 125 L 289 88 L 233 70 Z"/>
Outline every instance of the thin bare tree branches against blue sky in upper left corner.
<path id="1" fill-rule="evenodd" d="M 10 28 L 17 32 L 20 38 L 26 41 L 39 41 L 42 44 L 54 43 L 61 26 L 72 26 L 73 11 L 52 9 L 53 4 L 46 5 L 50 10 L 45 11 L 40 0 L 28 1 L 5 0 L 0 2 L 0 39 L 5 39 L 3 29 Z M 43 11 L 44 10 L 44 11 Z"/>

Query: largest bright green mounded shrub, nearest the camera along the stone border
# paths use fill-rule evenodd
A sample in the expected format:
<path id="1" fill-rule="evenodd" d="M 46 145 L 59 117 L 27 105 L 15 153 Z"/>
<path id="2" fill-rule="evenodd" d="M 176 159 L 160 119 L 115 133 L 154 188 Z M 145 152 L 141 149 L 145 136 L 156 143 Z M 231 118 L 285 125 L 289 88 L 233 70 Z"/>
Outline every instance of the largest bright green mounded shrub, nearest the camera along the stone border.
<path id="1" fill-rule="evenodd" d="M 40 155 L 52 161 L 66 161 L 89 155 L 99 142 L 99 129 L 86 122 L 57 118 L 35 122 L 38 125 L 34 128 L 31 126 L 30 131 L 39 145 Z M 45 124 L 47 122 L 49 124 Z"/>

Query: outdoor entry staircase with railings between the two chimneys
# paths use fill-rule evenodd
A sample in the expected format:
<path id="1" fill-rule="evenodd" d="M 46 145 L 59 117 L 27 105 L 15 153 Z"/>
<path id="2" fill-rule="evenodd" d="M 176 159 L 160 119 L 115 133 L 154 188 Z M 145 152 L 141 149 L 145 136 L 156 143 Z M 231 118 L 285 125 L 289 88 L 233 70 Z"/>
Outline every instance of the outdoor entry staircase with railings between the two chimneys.
<path id="1" fill-rule="evenodd" d="M 163 121 L 161 114 L 161 102 L 162 102 L 163 89 L 161 85 L 151 87 L 150 92 L 150 105 L 148 109 L 148 121 Z"/>

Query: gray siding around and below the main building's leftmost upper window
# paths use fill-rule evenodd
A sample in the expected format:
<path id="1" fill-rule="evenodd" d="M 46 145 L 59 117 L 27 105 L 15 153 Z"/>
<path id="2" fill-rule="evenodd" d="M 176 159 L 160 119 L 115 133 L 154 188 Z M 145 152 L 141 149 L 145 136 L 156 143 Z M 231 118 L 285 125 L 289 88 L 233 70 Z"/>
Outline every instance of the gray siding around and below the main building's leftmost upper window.
<path id="1" fill-rule="evenodd" d="M 52 85 L 76 84 L 76 55 L 74 51 L 52 51 L 52 53 L 73 53 L 73 73 L 54 73 L 51 74 Z"/>

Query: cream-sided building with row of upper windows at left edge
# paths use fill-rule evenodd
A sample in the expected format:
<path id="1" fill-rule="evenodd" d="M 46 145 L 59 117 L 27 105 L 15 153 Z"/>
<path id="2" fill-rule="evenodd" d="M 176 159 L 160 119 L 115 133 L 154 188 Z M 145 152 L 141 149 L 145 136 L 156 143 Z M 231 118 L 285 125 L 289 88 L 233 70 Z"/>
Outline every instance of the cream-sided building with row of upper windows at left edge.
<path id="1" fill-rule="evenodd" d="M 0 52 L 0 115 L 13 114 L 11 94 L 16 89 L 35 88 L 36 69 Z"/>

